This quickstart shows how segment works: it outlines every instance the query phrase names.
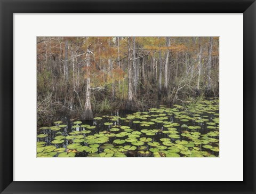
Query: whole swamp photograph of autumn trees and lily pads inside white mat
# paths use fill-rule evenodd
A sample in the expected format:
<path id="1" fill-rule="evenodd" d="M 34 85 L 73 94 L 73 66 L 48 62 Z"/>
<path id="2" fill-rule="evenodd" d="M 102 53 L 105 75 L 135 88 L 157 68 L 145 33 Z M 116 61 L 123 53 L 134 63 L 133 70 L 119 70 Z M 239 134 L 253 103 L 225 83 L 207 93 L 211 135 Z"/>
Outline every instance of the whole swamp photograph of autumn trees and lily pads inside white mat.
<path id="1" fill-rule="evenodd" d="M 37 157 L 219 157 L 219 37 L 37 37 Z"/>

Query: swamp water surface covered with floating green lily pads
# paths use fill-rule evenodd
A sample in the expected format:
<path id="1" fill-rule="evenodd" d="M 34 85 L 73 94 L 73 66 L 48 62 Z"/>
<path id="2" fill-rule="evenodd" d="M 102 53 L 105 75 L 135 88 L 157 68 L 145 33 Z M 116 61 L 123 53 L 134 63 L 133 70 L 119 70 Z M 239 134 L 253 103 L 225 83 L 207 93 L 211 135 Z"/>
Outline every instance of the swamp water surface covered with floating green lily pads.
<path id="1" fill-rule="evenodd" d="M 219 100 L 41 127 L 37 157 L 218 157 Z"/>

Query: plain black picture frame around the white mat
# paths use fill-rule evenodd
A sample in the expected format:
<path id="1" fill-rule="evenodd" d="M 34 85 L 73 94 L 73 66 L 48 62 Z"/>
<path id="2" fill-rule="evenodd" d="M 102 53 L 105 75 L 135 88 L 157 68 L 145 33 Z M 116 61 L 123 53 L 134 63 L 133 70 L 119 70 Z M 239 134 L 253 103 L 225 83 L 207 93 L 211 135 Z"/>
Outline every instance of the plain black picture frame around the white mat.
<path id="1" fill-rule="evenodd" d="M 1 193 L 255 193 L 255 0 L 0 0 Z M 243 182 L 14 182 L 13 13 L 243 13 Z M 238 154 L 239 156 L 239 154 Z M 239 156 L 241 157 L 241 156 Z M 235 156 L 234 156 L 235 159 Z M 29 169 L 28 169 L 29 170 Z M 157 180 L 157 177 L 156 177 Z"/>

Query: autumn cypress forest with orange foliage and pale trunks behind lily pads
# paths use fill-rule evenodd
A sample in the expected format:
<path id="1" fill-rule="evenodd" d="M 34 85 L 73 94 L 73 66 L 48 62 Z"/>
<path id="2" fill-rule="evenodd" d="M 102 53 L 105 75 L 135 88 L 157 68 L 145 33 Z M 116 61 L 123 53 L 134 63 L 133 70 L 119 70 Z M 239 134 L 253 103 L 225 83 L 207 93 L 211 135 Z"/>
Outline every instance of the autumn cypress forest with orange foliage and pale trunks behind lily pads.
<path id="1" fill-rule="evenodd" d="M 37 125 L 219 96 L 219 37 L 37 37 Z"/>

